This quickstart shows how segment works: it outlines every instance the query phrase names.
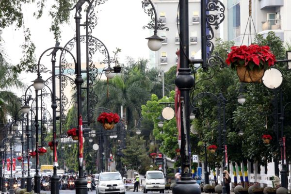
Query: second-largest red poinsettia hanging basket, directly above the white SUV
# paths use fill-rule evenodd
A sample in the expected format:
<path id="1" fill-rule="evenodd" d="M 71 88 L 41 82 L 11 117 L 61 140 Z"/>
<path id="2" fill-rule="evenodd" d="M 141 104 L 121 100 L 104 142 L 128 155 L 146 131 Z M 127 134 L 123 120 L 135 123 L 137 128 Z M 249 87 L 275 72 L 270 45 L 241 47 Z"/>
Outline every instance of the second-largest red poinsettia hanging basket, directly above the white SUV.
<path id="1" fill-rule="evenodd" d="M 114 125 L 119 122 L 119 115 L 117 113 L 101 113 L 99 114 L 97 121 L 103 124 L 105 130 L 111 130 Z"/>

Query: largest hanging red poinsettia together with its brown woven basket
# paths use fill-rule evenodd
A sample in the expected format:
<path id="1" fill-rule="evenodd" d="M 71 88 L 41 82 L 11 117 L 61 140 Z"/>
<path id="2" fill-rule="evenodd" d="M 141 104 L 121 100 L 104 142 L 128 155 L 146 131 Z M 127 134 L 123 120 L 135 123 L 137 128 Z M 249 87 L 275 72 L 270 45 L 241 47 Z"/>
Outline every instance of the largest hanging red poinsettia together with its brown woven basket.
<path id="1" fill-rule="evenodd" d="M 226 64 L 236 68 L 241 82 L 261 82 L 265 70 L 276 62 L 268 46 L 234 46 L 227 55 Z"/>

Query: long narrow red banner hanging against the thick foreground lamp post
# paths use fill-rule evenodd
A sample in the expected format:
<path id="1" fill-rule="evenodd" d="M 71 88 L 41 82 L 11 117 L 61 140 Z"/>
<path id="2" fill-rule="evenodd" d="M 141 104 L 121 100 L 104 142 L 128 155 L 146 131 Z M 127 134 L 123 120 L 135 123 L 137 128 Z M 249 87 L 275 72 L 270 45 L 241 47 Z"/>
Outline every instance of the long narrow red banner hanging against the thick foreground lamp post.
<path id="1" fill-rule="evenodd" d="M 177 65 L 176 76 L 178 76 L 178 70 L 180 68 L 180 50 L 178 50 L 176 54 L 178 55 L 178 65 Z M 177 86 L 175 87 L 175 114 L 176 114 L 176 122 L 177 122 L 177 129 L 178 129 L 178 145 L 179 145 L 179 148 L 181 148 L 181 102 L 180 102 L 180 90 Z"/>

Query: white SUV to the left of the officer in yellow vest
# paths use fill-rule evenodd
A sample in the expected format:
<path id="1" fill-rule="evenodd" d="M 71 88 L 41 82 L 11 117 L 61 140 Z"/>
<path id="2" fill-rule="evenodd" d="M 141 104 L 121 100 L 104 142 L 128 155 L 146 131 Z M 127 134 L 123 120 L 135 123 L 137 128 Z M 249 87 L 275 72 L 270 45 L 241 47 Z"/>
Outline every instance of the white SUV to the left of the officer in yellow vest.
<path id="1" fill-rule="evenodd" d="M 97 194 L 125 194 L 125 184 L 119 172 L 101 172 L 97 179 Z"/>

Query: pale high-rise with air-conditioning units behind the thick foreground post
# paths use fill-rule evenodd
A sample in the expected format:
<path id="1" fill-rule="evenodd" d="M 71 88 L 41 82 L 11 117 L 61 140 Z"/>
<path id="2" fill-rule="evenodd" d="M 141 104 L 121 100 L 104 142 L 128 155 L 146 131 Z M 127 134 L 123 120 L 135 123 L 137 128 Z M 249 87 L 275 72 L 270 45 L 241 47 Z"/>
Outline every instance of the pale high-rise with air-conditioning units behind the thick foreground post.
<path id="1" fill-rule="evenodd" d="M 179 15 L 178 0 L 152 0 L 155 4 L 157 17 L 169 28 L 169 31 L 159 30 L 158 35 L 165 39 L 162 48 L 150 53 L 150 68 L 156 67 L 168 71 L 178 64 L 176 51 L 179 49 Z M 201 24 L 200 0 L 189 0 L 189 58 L 201 58 Z M 200 51 L 201 52 L 201 51 Z"/>

